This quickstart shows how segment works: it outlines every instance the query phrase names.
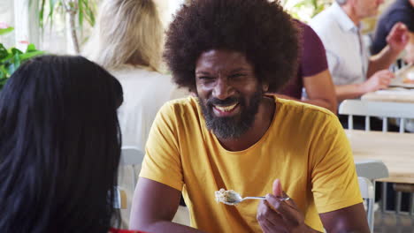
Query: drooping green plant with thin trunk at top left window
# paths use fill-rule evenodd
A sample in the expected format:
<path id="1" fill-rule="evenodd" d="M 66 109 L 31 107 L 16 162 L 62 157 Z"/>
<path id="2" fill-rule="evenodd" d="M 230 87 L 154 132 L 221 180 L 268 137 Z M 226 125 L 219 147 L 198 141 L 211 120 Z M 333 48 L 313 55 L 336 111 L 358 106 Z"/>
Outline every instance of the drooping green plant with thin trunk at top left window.
<path id="1" fill-rule="evenodd" d="M 77 53 L 79 49 L 78 29 L 83 28 L 83 22 L 86 20 L 90 26 L 95 25 L 97 0 L 30 0 L 30 5 L 37 7 L 39 26 L 43 29 L 45 19 L 50 20 L 50 27 L 53 26 L 53 19 L 57 14 L 65 13 L 69 17 L 69 26 L 73 41 L 73 47 Z M 46 14 L 46 11 L 49 13 Z M 76 26 L 78 18 L 79 28 Z"/>

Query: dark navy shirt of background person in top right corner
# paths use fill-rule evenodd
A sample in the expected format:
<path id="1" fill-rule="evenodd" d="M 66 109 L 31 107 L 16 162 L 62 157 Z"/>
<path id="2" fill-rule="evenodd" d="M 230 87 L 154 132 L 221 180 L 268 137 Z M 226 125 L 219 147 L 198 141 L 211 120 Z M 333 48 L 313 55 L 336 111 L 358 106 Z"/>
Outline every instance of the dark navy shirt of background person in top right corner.
<path id="1" fill-rule="evenodd" d="M 414 63 L 414 0 L 395 0 L 394 4 L 381 14 L 372 41 L 372 54 L 379 53 L 387 46 L 387 35 L 398 22 L 408 27 L 410 35 L 404 60 L 407 63 Z"/>

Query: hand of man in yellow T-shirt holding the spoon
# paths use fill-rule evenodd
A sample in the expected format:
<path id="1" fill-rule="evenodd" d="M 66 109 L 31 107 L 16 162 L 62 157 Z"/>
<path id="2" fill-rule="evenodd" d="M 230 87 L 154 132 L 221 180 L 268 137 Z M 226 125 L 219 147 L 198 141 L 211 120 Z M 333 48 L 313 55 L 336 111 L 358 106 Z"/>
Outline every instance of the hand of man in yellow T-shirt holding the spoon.
<path id="1" fill-rule="evenodd" d="M 280 180 L 276 179 L 272 187 L 273 194 L 267 194 L 257 207 L 257 222 L 264 232 L 312 232 L 304 224 L 303 214 L 293 199 L 282 191 Z"/>

